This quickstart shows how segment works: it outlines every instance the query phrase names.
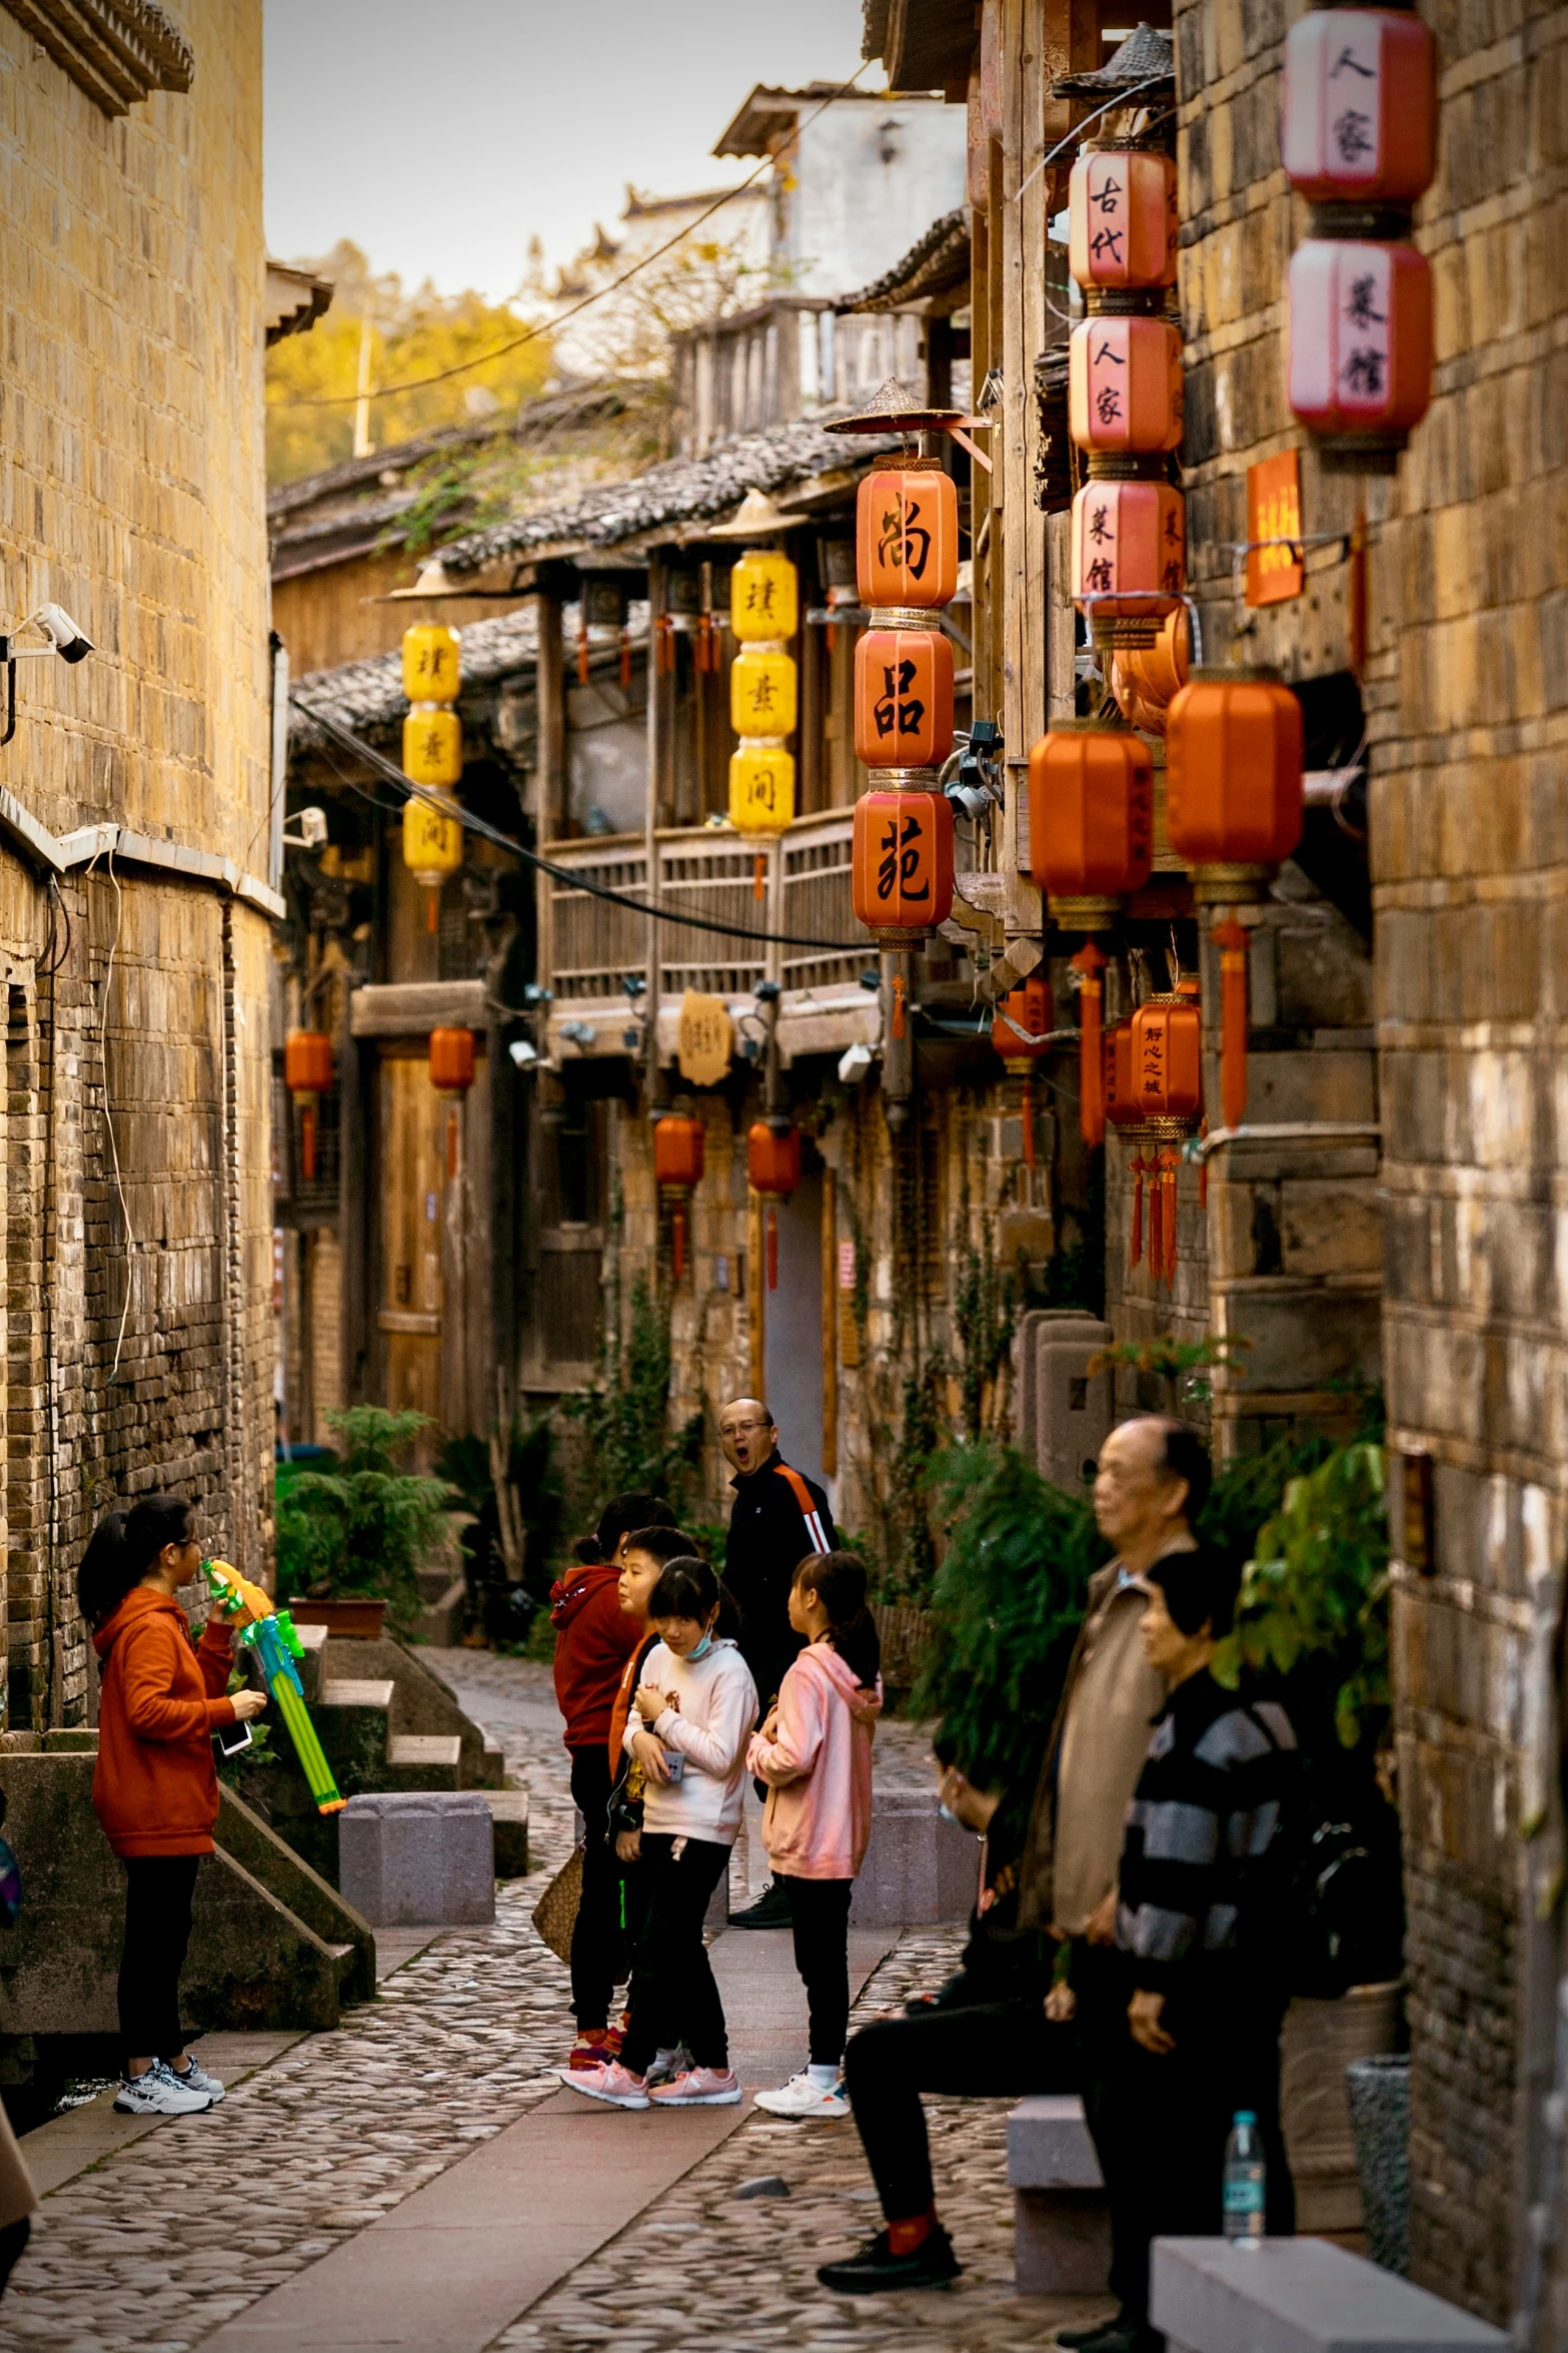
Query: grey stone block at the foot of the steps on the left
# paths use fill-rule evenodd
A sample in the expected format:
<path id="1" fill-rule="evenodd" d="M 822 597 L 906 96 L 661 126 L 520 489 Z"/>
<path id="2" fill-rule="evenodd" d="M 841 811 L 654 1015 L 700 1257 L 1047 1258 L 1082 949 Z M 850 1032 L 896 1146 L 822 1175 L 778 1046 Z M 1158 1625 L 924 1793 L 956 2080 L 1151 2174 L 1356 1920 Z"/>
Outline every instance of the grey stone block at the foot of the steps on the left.
<path id="1" fill-rule="evenodd" d="M 378 1791 L 339 1814 L 339 1887 L 371 1927 L 496 1918 L 494 1824 L 477 1791 Z"/>

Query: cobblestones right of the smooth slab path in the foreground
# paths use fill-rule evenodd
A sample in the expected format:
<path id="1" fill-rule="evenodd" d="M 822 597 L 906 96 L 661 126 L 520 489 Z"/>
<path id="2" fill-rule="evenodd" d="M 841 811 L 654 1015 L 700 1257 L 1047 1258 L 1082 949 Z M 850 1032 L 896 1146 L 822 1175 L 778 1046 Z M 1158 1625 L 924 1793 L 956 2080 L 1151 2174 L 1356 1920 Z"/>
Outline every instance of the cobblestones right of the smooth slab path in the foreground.
<path id="1" fill-rule="evenodd" d="M 957 1965 L 961 1929 L 914 1929 L 884 1960 L 853 2019 L 898 2009 Z M 877 2193 L 853 2125 L 783 2125 L 752 2113 L 712 2158 L 609 2247 L 494 2339 L 491 2353 L 748 2353 L 792 2346 L 910 2346 L 919 2353 L 1027 2353 L 1056 2329 L 1110 2313 L 1112 2301 L 1013 2294 L 1013 2193 L 1006 2186 L 1011 2101 L 926 2101 L 943 2221 L 964 2275 L 943 2292 L 830 2297 L 816 2266 L 879 2228 Z M 743 2181 L 778 2174 L 790 2198 L 736 2200 Z"/>

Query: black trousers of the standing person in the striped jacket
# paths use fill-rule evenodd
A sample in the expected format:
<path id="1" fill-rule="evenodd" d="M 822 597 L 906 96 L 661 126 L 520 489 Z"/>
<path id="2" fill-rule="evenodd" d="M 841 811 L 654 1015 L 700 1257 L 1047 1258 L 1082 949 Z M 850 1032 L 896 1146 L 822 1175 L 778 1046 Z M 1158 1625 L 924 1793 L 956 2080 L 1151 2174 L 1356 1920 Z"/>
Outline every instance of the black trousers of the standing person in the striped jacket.
<path id="1" fill-rule="evenodd" d="M 1279 2021 L 1284 2005 L 1248 1998 L 1229 1977 L 1211 1993 L 1171 1995 L 1161 2026 L 1175 2049 L 1157 2057 L 1131 2040 L 1110 2092 L 1107 2172 L 1112 2289 L 1138 2327 L 1150 2313 L 1150 2247 L 1157 2238 L 1218 2238 L 1225 2141 L 1237 2108 L 1251 2108 L 1267 2165 L 1267 2228 L 1295 2231 L 1295 2186 L 1279 2129 Z M 1105 2167 L 1105 2158 L 1100 2158 Z"/>

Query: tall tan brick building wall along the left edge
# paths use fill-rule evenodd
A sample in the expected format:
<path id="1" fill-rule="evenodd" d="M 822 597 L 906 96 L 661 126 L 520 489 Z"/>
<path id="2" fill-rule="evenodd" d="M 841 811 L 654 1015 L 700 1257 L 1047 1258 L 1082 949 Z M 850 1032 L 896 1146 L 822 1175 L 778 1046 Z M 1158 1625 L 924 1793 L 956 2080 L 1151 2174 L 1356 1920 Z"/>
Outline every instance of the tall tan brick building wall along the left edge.
<path id="1" fill-rule="evenodd" d="M 186 0 L 190 94 L 108 120 L 0 7 L 0 609 L 96 652 L 26 664 L 0 784 L 266 875 L 261 24 Z M 270 927 L 101 854 L 49 889 L 0 842 L 7 986 L 9 1722 L 80 1722 L 80 1548 L 174 1487 L 252 1572 L 270 1539 Z"/>

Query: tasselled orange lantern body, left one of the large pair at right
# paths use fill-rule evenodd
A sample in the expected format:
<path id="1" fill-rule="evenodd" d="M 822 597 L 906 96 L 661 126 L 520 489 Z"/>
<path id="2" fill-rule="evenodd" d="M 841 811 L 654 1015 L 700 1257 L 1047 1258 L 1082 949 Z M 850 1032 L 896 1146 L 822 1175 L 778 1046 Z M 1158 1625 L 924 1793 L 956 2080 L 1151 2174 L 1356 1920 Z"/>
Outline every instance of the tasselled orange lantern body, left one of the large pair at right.
<path id="1" fill-rule="evenodd" d="M 1112 922 L 1150 880 L 1154 767 L 1126 727 L 1056 720 L 1030 753 L 1030 873 L 1067 929 Z"/>

